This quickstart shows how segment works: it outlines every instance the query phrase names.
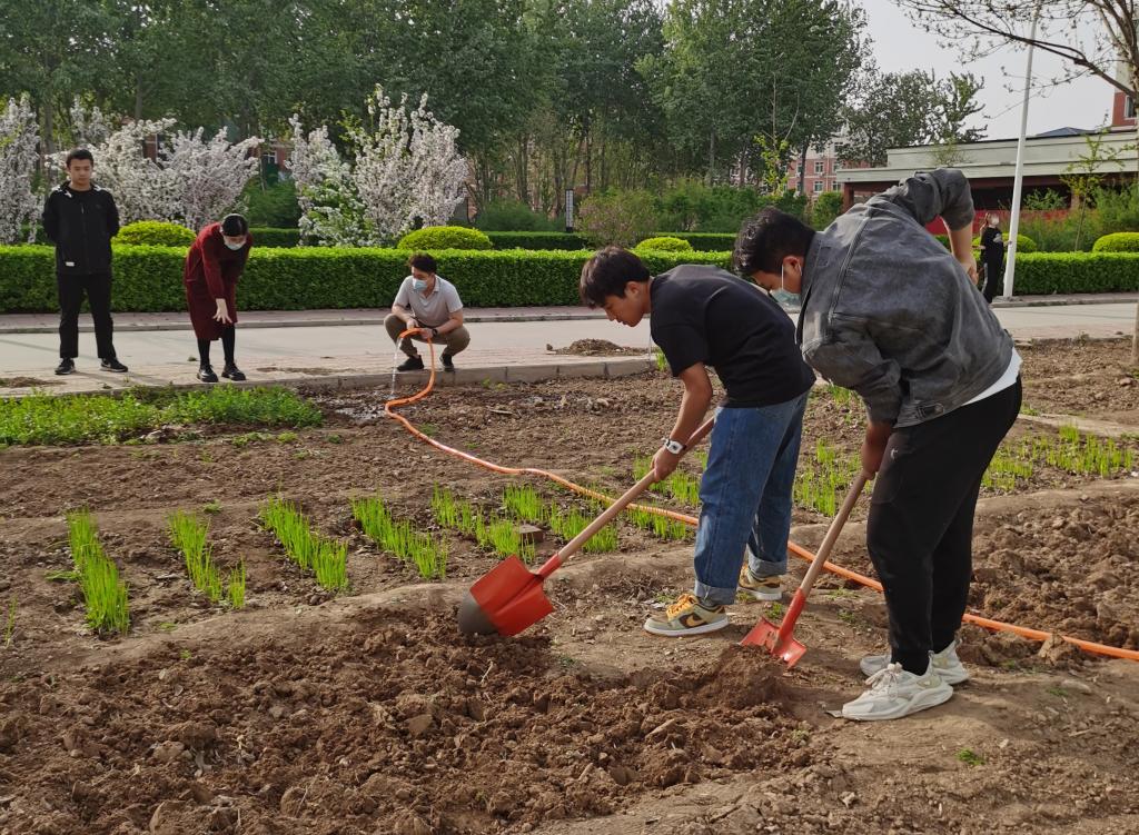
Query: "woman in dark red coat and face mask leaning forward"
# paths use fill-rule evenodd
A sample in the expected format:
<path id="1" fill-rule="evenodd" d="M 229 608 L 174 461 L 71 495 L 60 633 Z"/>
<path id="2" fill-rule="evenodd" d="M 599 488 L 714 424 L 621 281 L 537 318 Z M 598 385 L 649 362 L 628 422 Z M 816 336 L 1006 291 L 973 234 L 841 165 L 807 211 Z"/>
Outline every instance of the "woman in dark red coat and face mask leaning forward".
<path id="1" fill-rule="evenodd" d="M 233 326 L 237 324 L 237 279 L 245 270 L 253 236 L 249 224 L 239 214 L 227 214 L 221 223 L 211 223 L 198 232 L 186 254 L 186 304 L 190 311 L 194 335 L 198 337 L 198 379 L 216 383 L 210 366 L 210 343 L 220 338 L 226 353 L 221 376 L 245 379 L 233 362 Z"/>

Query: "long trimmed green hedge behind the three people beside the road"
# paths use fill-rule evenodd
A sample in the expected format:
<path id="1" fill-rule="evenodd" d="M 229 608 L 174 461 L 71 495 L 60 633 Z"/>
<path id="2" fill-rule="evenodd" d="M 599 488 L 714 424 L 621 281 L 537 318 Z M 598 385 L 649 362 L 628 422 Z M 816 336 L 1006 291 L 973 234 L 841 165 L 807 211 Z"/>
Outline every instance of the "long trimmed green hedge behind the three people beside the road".
<path id="1" fill-rule="evenodd" d="M 319 310 L 392 304 L 408 275 L 408 249 L 298 247 L 249 252 L 238 286 L 240 310 Z M 472 308 L 577 304 L 577 280 L 588 252 L 443 249 L 439 271 Z M 180 311 L 185 251 L 116 246 L 116 311 Z M 728 253 L 645 253 L 650 271 L 678 263 L 728 265 Z M 49 246 L 0 247 L 0 313 L 58 310 L 55 253 Z"/>

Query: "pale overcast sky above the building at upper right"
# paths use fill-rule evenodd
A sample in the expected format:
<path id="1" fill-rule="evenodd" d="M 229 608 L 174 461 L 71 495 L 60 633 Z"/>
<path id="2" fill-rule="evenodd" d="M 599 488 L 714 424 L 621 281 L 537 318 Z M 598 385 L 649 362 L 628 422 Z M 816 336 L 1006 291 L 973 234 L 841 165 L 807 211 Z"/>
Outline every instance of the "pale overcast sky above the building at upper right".
<path id="1" fill-rule="evenodd" d="M 1025 52 L 1005 48 L 982 63 L 966 64 L 959 54 L 944 49 L 936 35 L 923 31 L 891 0 L 855 0 L 866 9 L 868 34 L 883 72 L 934 69 L 939 77 L 950 71 L 972 72 L 985 82 L 978 99 L 989 117 L 986 139 L 1015 138 L 1021 130 L 1021 101 L 1024 90 Z M 1040 50 L 1033 58 L 1032 74 L 1039 81 L 1055 77 L 1063 62 Z M 1001 67 L 1005 67 L 1005 71 Z M 1015 88 L 1013 92 L 1006 87 Z M 1029 104 L 1029 134 L 1054 128 L 1098 128 L 1111 121 L 1114 88 L 1106 81 L 1085 77 L 1063 87 L 1034 91 Z"/>

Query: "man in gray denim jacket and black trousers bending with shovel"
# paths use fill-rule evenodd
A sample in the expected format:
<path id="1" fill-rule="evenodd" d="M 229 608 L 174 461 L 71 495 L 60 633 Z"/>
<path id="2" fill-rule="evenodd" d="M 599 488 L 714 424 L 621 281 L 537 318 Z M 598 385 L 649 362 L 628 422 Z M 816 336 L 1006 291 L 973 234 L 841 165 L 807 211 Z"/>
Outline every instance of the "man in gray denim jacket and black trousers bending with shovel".
<path id="1" fill-rule="evenodd" d="M 941 216 L 945 251 L 925 226 Z M 968 678 L 957 629 L 972 580 L 981 477 L 1021 407 L 1021 358 L 976 290 L 974 211 L 960 171 L 916 174 L 816 232 L 775 208 L 748 221 L 736 264 L 800 294 L 803 357 L 867 408 L 862 468 L 877 477 L 867 547 L 890 613 L 850 719 L 896 719 Z"/>

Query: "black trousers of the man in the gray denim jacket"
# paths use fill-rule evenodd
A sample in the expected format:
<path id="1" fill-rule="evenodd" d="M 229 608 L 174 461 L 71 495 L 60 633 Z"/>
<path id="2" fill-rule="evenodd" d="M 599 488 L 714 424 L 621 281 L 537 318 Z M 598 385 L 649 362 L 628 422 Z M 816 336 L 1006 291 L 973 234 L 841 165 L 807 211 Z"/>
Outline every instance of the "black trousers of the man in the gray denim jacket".
<path id="1" fill-rule="evenodd" d="M 1021 411 L 1021 379 L 886 444 L 867 521 L 867 548 L 886 595 L 891 660 L 926 670 L 961 624 L 973 579 L 981 476 Z"/>

